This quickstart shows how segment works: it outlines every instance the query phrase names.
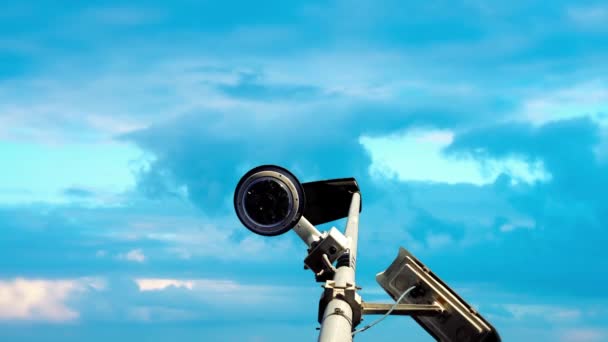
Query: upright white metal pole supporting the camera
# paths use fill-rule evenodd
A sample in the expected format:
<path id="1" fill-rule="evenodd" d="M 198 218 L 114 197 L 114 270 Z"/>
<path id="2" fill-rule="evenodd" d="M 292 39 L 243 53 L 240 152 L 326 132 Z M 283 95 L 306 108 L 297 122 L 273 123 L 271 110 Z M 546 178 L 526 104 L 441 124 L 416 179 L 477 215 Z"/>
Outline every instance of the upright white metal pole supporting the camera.
<path id="1" fill-rule="evenodd" d="M 355 286 L 355 266 L 357 261 L 357 240 L 359 235 L 359 208 L 361 195 L 353 194 L 346 221 L 345 236 L 349 239 L 349 250 L 338 259 L 338 269 L 334 276 L 335 287 L 346 288 L 347 284 Z M 350 305 L 341 298 L 332 299 L 325 308 L 319 342 L 351 342 L 353 311 Z"/>

